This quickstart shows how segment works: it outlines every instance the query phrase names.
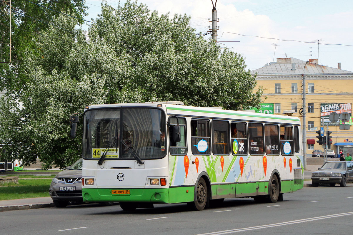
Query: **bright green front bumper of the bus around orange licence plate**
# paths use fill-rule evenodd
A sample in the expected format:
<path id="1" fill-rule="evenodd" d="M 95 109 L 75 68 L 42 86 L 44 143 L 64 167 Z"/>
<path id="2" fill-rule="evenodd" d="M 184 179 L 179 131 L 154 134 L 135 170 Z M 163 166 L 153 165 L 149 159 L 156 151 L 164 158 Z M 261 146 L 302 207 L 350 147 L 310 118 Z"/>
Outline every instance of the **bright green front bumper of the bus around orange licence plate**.
<path id="1" fill-rule="evenodd" d="M 168 188 L 124 188 L 130 194 L 112 194 L 116 188 L 82 188 L 84 202 L 168 203 Z"/>

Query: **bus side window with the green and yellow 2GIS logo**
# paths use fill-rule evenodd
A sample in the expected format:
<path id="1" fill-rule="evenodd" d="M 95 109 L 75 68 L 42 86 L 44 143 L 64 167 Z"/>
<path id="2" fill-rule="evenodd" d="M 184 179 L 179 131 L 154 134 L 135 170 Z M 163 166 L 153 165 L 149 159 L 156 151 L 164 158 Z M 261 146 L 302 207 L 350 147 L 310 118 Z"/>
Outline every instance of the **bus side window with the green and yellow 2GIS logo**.
<path id="1" fill-rule="evenodd" d="M 231 146 L 233 155 L 247 155 L 246 123 L 231 123 Z"/>

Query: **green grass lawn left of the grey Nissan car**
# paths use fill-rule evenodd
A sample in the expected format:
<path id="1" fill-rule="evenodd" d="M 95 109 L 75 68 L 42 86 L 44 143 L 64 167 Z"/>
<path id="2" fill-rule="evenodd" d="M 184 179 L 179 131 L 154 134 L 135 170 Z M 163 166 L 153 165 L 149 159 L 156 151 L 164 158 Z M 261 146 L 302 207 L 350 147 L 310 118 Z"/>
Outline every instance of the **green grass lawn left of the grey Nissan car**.
<path id="1" fill-rule="evenodd" d="M 0 200 L 32 197 L 49 197 L 52 179 L 19 179 L 18 184 L 8 183 L 0 186 Z"/>

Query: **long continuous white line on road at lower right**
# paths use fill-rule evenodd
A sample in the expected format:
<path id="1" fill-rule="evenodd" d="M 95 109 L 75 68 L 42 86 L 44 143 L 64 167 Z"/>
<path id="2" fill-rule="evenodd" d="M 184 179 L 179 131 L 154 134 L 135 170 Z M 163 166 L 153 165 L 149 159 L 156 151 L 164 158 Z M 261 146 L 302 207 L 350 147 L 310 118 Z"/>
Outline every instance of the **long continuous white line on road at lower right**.
<path id="1" fill-rule="evenodd" d="M 229 233 L 238 233 L 238 232 L 249 231 L 249 230 L 271 228 L 271 227 L 283 226 L 283 225 L 288 225 L 288 224 L 305 223 L 305 222 L 315 221 L 315 220 L 319 220 L 319 219 L 328 219 L 328 218 L 347 216 L 347 215 L 353 215 L 353 211 L 346 212 L 346 213 L 340 213 L 340 214 L 332 214 L 332 215 L 306 218 L 306 219 L 298 219 L 298 220 L 287 221 L 287 222 L 282 222 L 282 223 L 265 224 L 265 225 L 255 226 L 255 227 L 223 230 L 223 231 L 217 231 L 217 232 L 212 232 L 212 233 L 203 233 L 203 234 L 197 234 L 197 235 L 221 235 L 221 234 L 229 234 Z"/>

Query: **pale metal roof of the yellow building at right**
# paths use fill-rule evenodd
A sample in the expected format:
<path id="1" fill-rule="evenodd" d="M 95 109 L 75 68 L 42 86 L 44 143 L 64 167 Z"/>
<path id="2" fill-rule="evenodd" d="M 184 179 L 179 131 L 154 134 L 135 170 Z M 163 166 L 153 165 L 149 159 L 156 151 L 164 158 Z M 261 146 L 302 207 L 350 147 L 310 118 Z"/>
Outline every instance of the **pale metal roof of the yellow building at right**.
<path id="1" fill-rule="evenodd" d="M 297 58 L 277 58 L 277 62 L 271 62 L 264 67 L 250 71 L 251 74 L 273 75 L 273 74 L 291 74 L 301 75 L 304 73 L 306 61 Z M 317 59 L 312 59 L 305 67 L 305 74 L 350 74 L 353 72 L 338 68 L 332 68 L 318 64 Z"/>

